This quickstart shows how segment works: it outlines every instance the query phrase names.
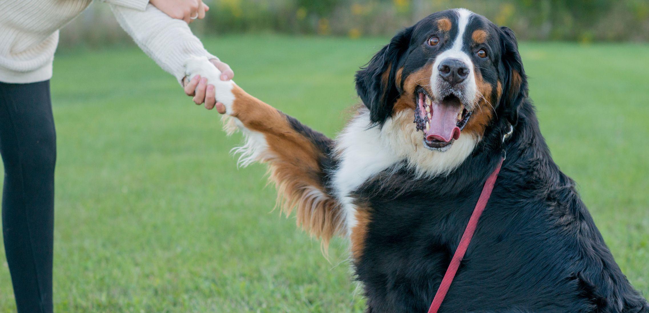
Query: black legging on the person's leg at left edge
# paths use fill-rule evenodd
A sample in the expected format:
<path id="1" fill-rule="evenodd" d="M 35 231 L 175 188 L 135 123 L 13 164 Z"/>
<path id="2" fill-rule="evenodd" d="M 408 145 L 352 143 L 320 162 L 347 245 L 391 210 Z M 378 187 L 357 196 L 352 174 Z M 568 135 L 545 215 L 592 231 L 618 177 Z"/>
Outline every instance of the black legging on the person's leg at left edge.
<path id="1" fill-rule="evenodd" d="M 51 313 L 56 134 L 49 81 L 0 82 L 2 226 L 19 313 Z"/>

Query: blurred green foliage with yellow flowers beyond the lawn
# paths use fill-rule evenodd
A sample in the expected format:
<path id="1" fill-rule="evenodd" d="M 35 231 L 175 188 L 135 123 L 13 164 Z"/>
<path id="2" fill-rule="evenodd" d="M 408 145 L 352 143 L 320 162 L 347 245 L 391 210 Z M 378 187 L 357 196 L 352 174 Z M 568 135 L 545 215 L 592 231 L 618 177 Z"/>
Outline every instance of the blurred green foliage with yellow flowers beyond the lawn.
<path id="1" fill-rule="evenodd" d="M 647 0 L 204 0 L 201 35 L 283 33 L 391 36 L 432 12 L 468 8 L 521 40 L 649 41 Z M 130 43 L 108 6 L 90 6 L 62 32 L 62 47 Z"/>

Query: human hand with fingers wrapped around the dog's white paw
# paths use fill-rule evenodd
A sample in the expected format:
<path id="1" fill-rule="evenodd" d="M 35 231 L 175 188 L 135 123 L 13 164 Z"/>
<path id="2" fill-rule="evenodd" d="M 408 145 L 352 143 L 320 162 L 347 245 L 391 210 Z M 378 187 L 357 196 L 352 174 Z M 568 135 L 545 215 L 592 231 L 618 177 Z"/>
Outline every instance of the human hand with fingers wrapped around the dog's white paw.
<path id="1" fill-rule="evenodd" d="M 208 76 L 207 73 L 209 72 L 210 74 L 217 74 L 221 81 L 232 80 L 234 72 L 230 69 L 230 66 L 227 65 L 227 63 L 223 63 L 217 59 L 210 59 L 210 63 L 211 65 L 207 66 L 211 67 L 214 65 L 214 71 L 210 72 L 209 69 L 203 69 L 205 70 L 203 76 Z M 192 74 L 195 76 L 193 76 L 191 80 L 188 77 L 183 80 L 185 93 L 188 96 L 193 96 L 193 101 L 197 105 L 204 103 L 205 109 L 211 110 L 216 107 L 216 110 L 219 113 L 225 113 L 225 105 L 216 101 L 216 88 L 214 87 L 214 83 L 208 85 L 208 77 L 201 77 L 201 75 L 196 72 L 188 72 L 189 77 L 191 77 Z M 212 76 L 212 79 L 214 79 L 214 76 Z M 218 81 L 216 83 L 218 83 Z"/>

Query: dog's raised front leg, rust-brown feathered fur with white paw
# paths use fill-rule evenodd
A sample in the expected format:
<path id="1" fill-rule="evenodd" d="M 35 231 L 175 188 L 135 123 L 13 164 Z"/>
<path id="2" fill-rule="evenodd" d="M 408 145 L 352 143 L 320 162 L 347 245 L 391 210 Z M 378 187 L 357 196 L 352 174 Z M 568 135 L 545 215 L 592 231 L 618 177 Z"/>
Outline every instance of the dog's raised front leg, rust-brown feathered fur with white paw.
<path id="1" fill-rule="evenodd" d="M 288 215 L 297 209 L 297 224 L 325 246 L 341 233 L 341 208 L 325 188 L 332 140 L 247 94 L 234 81 L 221 81 L 221 72 L 206 58 L 190 60 L 186 70 L 190 78 L 198 74 L 214 85 L 217 100 L 225 105 L 228 133 L 240 129 L 245 135 L 245 144 L 235 149 L 241 154 L 239 164 L 269 165 L 282 211 Z"/>

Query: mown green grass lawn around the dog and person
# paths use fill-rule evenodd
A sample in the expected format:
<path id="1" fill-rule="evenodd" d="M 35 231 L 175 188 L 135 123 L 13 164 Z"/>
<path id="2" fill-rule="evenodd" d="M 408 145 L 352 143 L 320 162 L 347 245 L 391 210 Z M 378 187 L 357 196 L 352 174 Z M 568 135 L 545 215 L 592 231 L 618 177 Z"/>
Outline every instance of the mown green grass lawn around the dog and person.
<path id="1" fill-rule="evenodd" d="M 354 70 L 387 39 L 207 40 L 248 92 L 334 136 Z M 531 96 L 631 283 L 649 294 L 649 45 L 524 43 Z M 264 167 L 237 169 L 215 111 L 137 49 L 67 52 L 52 80 L 58 131 L 56 312 L 361 312 L 330 261 L 271 211 Z M 0 312 L 15 310 L 0 249 Z"/>

